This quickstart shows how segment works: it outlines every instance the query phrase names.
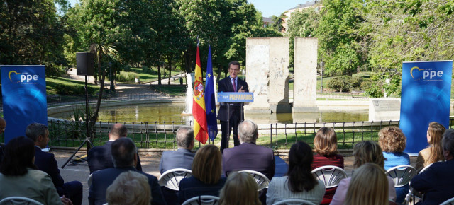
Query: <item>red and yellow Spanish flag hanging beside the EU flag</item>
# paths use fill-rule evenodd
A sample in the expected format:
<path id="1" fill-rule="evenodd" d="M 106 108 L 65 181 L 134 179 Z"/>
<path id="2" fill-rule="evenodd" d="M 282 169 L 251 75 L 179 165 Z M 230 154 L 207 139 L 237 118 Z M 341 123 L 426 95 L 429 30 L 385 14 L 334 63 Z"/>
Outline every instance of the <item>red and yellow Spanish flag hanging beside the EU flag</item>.
<path id="1" fill-rule="evenodd" d="M 192 100 L 192 115 L 194 116 L 194 136 L 202 144 L 208 140 L 206 132 L 204 80 L 201 78 L 199 44 L 197 44 L 196 74 L 194 81 L 194 98 Z"/>

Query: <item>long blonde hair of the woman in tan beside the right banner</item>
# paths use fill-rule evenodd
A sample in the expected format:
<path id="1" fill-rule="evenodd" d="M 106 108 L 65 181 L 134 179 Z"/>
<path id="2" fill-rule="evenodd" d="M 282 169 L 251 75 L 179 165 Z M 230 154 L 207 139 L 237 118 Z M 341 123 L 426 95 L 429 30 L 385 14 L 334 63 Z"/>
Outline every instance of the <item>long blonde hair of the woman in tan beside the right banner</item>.
<path id="1" fill-rule="evenodd" d="M 427 164 L 436 163 L 439 160 L 445 160 L 445 156 L 443 156 L 443 148 L 441 147 L 441 139 L 443 138 L 443 133 L 445 133 L 445 127 L 443 124 L 438 122 L 431 122 L 428 124 L 428 135 L 431 136 L 431 141 L 428 143 L 429 151 L 431 151 L 431 155 L 428 156 Z"/>

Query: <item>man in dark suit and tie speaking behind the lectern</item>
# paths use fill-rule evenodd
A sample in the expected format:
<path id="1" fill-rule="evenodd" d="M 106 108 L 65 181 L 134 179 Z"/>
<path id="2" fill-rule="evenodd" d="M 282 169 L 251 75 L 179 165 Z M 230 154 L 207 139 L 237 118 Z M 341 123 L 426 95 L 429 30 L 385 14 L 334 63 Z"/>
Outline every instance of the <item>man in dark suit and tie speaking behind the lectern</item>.
<path id="1" fill-rule="evenodd" d="M 231 61 L 228 64 L 230 76 L 218 83 L 218 92 L 249 92 L 248 83 L 238 78 L 240 63 Z M 233 144 L 240 145 L 238 140 L 238 124 L 244 119 L 243 102 L 223 102 L 219 107 L 218 119 L 221 122 L 221 152 L 228 148 L 228 139 L 233 129 Z"/>

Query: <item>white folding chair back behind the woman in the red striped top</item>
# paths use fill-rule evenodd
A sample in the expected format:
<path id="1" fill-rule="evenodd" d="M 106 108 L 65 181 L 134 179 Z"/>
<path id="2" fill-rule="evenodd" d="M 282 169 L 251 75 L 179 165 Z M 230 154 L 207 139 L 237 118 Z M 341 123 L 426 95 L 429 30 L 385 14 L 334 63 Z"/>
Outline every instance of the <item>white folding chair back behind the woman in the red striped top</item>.
<path id="1" fill-rule="evenodd" d="M 312 175 L 325 183 L 326 189 L 337 187 L 345 179 L 347 172 L 336 166 L 323 166 L 312 170 Z"/>

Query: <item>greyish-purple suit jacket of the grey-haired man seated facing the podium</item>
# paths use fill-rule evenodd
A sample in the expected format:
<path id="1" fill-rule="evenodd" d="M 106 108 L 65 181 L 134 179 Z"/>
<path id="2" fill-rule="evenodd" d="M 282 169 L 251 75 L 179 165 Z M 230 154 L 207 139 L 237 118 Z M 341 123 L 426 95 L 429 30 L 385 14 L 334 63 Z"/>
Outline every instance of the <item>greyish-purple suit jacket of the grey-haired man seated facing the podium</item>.
<path id="1" fill-rule="evenodd" d="M 222 170 L 226 176 L 233 171 L 254 170 L 271 180 L 275 175 L 275 157 L 271 148 L 253 143 L 243 143 L 233 148 L 224 149 Z"/>

